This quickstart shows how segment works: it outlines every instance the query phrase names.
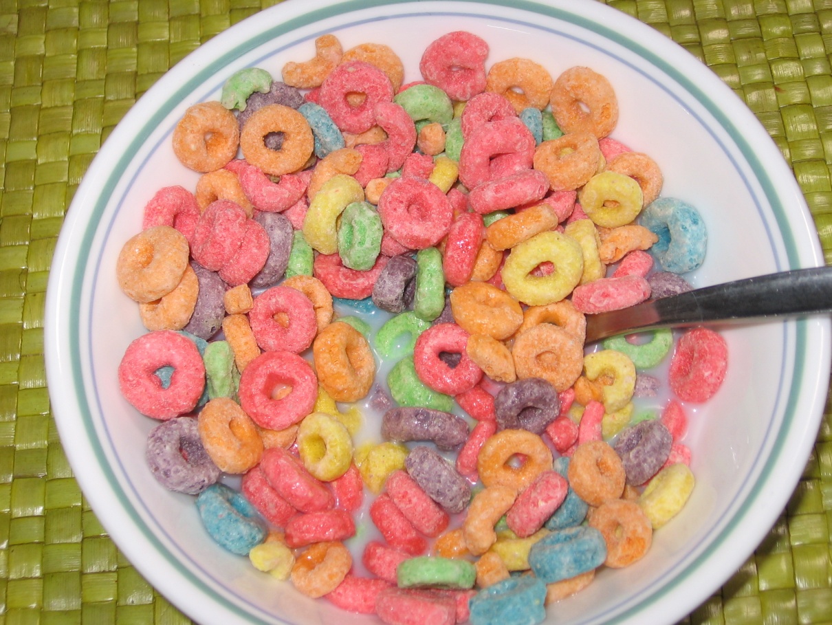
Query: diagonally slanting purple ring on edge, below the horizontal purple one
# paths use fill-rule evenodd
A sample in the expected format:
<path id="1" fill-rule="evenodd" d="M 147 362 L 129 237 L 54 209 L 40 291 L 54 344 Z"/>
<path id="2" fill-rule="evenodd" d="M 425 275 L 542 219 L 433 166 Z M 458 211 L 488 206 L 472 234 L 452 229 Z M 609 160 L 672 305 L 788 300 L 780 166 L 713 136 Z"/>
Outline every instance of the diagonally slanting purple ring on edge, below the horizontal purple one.
<path id="1" fill-rule="evenodd" d="M 449 513 L 462 512 L 471 500 L 468 480 L 453 465 L 429 447 L 414 447 L 404 460 L 411 478 Z"/>

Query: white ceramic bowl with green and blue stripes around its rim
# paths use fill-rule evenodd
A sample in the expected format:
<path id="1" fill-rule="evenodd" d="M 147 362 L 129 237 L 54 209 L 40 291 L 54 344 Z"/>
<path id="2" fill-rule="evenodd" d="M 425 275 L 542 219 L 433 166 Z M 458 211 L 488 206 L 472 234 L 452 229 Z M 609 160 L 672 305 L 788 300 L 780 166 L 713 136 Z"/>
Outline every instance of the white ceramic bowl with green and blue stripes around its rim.
<path id="1" fill-rule="evenodd" d="M 305 2 L 288 0 L 212 39 L 141 98 L 77 191 L 47 297 L 47 374 L 64 448 L 84 493 L 119 547 L 185 613 L 210 623 L 371 623 L 295 593 L 247 558 L 210 542 L 193 499 L 162 489 L 144 461 L 156 425 L 121 398 L 116 367 L 143 328 L 116 285 L 115 260 L 162 186 L 193 188 L 173 156 L 186 107 L 219 99 L 242 67 L 275 76 L 334 32 L 344 49 L 386 43 L 417 80 L 424 47 L 453 30 L 490 45 L 488 65 L 528 57 L 552 73 L 584 65 L 609 77 L 620 103 L 613 137 L 650 154 L 664 196 L 696 206 L 710 232 L 689 276 L 710 285 L 820 265 L 815 228 L 780 152 L 745 105 L 675 43 L 597 2 Z M 825 320 L 724 332 L 730 369 L 719 394 L 689 406 L 697 485 L 683 512 L 626 571 L 550 609 L 548 623 L 673 623 L 718 588 L 760 542 L 795 488 L 815 441 L 829 381 Z"/>

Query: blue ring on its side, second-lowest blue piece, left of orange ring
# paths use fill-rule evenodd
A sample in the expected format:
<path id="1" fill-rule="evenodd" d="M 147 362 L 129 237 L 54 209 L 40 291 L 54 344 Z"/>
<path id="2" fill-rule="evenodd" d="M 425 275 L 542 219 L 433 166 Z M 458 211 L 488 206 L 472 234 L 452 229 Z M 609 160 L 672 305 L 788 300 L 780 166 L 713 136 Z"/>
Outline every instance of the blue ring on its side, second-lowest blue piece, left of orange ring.
<path id="1" fill-rule="evenodd" d="M 552 532 L 532 545 L 528 563 L 544 583 L 574 578 L 600 567 L 607 559 L 607 543 L 596 528 L 579 525 Z"/>

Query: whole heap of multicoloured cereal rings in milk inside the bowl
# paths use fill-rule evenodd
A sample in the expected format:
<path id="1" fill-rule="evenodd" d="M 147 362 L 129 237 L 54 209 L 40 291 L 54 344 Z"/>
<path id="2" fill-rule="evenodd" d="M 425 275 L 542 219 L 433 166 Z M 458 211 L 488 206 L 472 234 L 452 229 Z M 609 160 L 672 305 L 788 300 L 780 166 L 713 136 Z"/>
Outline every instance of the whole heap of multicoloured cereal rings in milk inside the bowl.
<path id="1" fill-rule="evenodd" d="M 691 496 L 726 341 L 584 343 L 586 315 L 691 288 L 705 221 L 612 138 L 607 77 L 539 61 L 448 32 L 405 76 L 324 35 L 176 125 L 202 177 L 121 250 L 149 331 L 118 381 L 161 421 L 161 488 L 271 582 L 391 625 L 533 625 Z"/>

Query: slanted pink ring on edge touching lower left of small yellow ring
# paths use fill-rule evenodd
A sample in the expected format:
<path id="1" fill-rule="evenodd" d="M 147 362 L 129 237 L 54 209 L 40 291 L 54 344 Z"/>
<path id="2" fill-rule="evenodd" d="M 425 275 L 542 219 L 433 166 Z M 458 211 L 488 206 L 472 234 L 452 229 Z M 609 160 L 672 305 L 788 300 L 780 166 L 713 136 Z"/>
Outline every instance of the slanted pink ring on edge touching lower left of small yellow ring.
<path id="1" fill-rule="evenodd" d="M 314 479 L 300 459 L 282 447 L 265 449 L 260 469 L 280 497 L 300 512 L 319 512 L 334 506 L 332 493 L 324 483 Z"/>

